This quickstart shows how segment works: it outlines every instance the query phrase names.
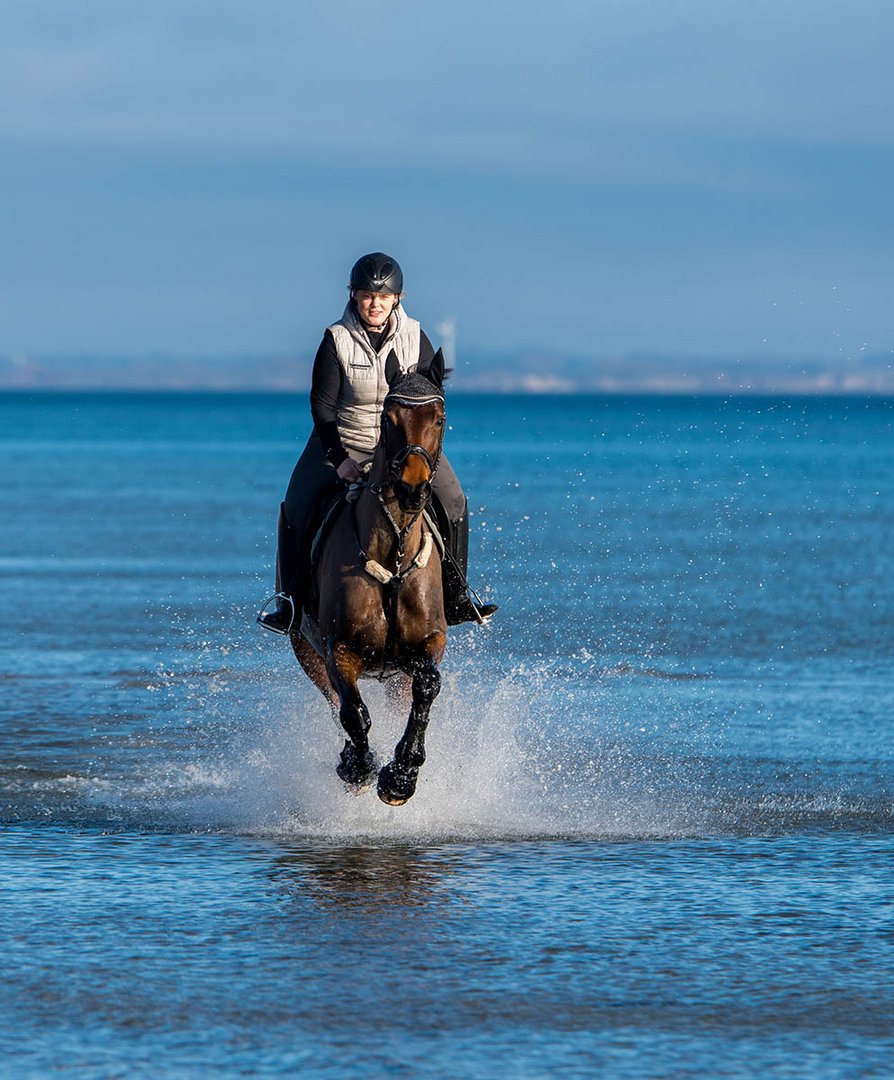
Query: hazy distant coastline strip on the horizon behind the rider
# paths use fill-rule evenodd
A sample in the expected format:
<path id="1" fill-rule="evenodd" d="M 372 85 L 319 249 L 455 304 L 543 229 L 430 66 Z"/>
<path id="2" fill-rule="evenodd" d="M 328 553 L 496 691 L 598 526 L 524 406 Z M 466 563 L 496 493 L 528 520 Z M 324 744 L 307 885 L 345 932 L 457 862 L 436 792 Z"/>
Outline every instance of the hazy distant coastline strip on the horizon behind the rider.
<path id="1" fill-rule="evenodd" d="M 296 356 L 0 356 L 0 391 L 301 393 Z M 514 394 L 894 394 L 894 354 L 853 361 L 680 356 L 582 359 L 543 353 L 462 359 L 452 386 Z"/>

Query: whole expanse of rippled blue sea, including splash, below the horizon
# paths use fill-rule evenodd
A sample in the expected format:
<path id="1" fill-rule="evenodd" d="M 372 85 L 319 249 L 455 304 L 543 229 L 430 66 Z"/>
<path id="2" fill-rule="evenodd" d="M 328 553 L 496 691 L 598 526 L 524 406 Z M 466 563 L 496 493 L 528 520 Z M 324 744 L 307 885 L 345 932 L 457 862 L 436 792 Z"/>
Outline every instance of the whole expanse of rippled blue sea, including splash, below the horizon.
<path id="1" fill-rule="evenodd" d="M 4 1074 L 890 1076 L 894 402 L 451 395 L 403 808 L 254 625 L 307 413 L 0 396 Z"/>

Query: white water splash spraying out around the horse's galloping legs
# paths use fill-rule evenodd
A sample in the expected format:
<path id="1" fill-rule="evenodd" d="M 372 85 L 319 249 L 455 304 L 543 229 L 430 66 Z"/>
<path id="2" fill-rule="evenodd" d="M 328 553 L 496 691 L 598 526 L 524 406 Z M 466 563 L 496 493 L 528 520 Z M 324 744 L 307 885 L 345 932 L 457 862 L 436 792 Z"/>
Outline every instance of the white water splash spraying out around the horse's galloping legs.
<path id="1" fill-rule="evenodd" d="M 742 757 L 736 729 L 754 718 L 708 673 L 586 650 L 495 670 L 487 643 L 471 636 L 448 659 L 417 794 L 389 807 L 336 777 L 343 735 L 287 652 L 273 653 L 282 663 L 271 669 L 261 645 L 223 652 L 211 640 L 182 650 L 179 670 L 118 673 L 122 698 L 133 705 L 141 694 L 144 712 L 110 718 L 89 766 L 80 733 L 58 768 L 36 758 L 0 770 L 8 820 L 375 843 L 876 829 L 894 820 L 883 777 L 846 762 L 811 770 Z M 384 762 L 406 712 L 375 683 L 363 692 Z"/>

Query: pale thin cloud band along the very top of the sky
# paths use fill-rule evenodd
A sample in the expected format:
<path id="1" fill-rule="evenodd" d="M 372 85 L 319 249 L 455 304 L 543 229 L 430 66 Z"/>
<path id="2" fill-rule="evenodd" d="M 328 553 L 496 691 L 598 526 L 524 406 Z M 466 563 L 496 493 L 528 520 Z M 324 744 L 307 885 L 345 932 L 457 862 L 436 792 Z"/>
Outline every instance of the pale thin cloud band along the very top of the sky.
<path id="1" fill-rule="evenodd" d="M 632 139 L 659 129 L 894 138 L 894 9 L 878 4 L 581 2 L 548 19 L 534 4 L 510 17 L 460 2 L 449 19 L 407 4 L 385 19 L 353 3 L 303 9 L 86 2 L 76 19 L 69 4 L 13 4 L 0 135 L 315 154 L 403 147 L 432 161 L 449 149 L 509 168 L 553 148 L 580 164 L 569 136 L 585 146 L 622 125 Z M 463 25 L 476 32 L 452 32 Z"/>

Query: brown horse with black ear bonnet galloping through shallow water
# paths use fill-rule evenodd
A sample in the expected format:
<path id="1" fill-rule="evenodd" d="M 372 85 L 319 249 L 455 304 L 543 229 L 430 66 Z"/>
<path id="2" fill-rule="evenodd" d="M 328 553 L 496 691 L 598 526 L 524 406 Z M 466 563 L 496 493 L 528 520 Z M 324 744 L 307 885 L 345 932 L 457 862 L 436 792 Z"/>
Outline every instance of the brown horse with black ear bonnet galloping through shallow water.
<path id="1" fill-rule="evenodd" d="M 411 374 L 389 355 L 371 468 L 322 538 L 311 569 L 315 610 L 306 607 L 289 632 L 298 662 L 344 730 L 336 772 L 355 792 L 377 778 L 358 680 L 394 675 L 403 688 L 409 683 L 406 729 L 378 770 L 377 793 L 390 806 L 416 792 L 447 646 L 441 554 L 423 516 L 444 444 L 444 376 L 441 350 L 424 372 Z"/>

